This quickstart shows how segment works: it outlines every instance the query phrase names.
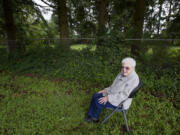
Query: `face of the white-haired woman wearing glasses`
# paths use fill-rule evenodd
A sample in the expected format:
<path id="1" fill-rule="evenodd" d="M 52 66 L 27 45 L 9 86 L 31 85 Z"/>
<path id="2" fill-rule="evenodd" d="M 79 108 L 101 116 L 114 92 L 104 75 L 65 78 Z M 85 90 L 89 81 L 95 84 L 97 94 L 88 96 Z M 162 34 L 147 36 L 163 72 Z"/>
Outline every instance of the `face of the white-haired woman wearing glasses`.
<path id="1" fill-rule="evenodd" d="M 121 73 L 123 76 L 128 76 L 133 70 L 134 68 L 131 66 L 131 64 L 129 63 L 122 64 Z"/>

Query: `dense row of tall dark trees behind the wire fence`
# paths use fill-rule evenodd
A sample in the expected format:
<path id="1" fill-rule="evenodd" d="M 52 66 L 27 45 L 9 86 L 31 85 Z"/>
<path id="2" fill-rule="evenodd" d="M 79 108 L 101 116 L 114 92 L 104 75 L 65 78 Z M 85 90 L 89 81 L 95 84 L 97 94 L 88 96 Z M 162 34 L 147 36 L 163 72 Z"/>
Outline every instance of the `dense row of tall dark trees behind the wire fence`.
<path id="1" fill-rule="evenodd" d="M 98 46 L 105 37 L 179 38 L 179 0 L 2 0 L 0 2 L 0 37 L 8 39 L 10 53 L 19 50 L 34 38 L 60 38 L 69 48 L 69 38 L 96 37 Z M 48 22 L 40 11 L 52 10 Z M 133 42 L 131 51 L 138 54 L 140 42 Z"/>

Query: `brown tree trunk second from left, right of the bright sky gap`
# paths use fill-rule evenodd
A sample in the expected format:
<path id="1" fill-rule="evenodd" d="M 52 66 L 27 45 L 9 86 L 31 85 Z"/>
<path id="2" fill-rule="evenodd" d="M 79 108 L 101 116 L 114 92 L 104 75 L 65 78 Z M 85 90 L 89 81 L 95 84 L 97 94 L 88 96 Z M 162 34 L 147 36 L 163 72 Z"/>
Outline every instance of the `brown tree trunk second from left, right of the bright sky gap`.
<path id="1" fill-rule="evenodd" d="M 60 41 L 61 44 L 69 49 L 69 28 L 68 28 L 68 17 L 66 0 L 58 0 L 58 17 L 59 17 L 59 28 L 60 28 Z"/>

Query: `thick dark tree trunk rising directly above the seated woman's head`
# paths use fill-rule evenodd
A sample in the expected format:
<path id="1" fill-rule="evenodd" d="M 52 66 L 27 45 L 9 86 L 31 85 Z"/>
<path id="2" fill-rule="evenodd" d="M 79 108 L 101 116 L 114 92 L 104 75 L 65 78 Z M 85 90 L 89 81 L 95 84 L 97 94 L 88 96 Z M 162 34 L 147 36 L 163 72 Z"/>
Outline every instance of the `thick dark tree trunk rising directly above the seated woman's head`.
<path id="1" fill-rule="evenodd" d="M 141 39 L 143 35 L 144 24 L 144 12 L 145 12 L 145 0 L 136 0 L 135 13 L 133 18 L 133 38 Z M 132 54 L 139 56 L 141 50 L 141 41 L 133 41 L 131 46 Z"/>

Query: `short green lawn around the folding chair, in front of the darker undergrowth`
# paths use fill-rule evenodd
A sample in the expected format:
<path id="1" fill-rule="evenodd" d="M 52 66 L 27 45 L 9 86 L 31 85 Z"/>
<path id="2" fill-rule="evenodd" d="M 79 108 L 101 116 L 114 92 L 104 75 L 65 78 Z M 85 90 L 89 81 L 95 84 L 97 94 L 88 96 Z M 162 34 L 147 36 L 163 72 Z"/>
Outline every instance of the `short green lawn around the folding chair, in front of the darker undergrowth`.
<path id="1" fill-rule="evenodd" d="M 33 74 L 0 73 L 1 135 L 127 134 L 116 113 L 104 125 L 86 123 L 91 96 L 100 90 L 90 82 L 51 79 Z M 102 112 L 103 118 L 104 111 Z M 127 113 L 133 135 L 178 135 L 179 112 L 167 99 L 141 89 Z"/>

